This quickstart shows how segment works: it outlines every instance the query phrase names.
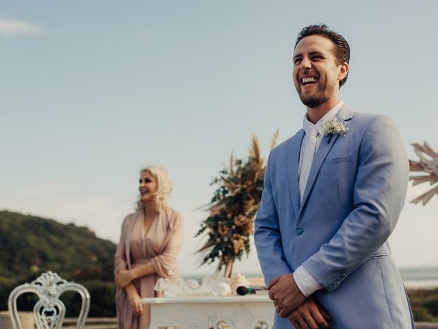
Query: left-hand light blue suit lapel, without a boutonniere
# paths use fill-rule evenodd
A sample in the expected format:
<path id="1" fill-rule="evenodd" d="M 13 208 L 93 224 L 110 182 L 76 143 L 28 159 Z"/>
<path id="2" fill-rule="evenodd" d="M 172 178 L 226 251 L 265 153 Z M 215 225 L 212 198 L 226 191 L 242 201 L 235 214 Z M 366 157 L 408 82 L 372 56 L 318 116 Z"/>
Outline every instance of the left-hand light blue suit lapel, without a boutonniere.
<path id="1" fill-rule="evenodd" d="M 287 149 L 287 176 L 289 178 L 290 196 L 292 205 L 294 206 L 295 215 L 300 209 L 300 193 L 298 191 L 298 162 L 300 161 L 300 149 L 302 138 L 304 138 L 304 130 L 300 130 L 291 139 L 289 148 Z"/>

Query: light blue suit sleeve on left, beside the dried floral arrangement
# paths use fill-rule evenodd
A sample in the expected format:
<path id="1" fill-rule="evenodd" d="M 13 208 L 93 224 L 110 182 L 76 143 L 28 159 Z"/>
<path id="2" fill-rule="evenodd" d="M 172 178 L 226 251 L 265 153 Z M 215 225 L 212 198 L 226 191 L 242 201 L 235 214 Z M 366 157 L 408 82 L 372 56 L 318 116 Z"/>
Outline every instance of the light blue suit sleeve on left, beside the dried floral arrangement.
<path id="1" fill-rule="evenodd" d="M 272 157 L 272 153 L 270 158 Z M 279 216 L 272 197 L 270 159 L 265 171 L 264 189 L 255 219 L 254 241 L 266 284 L 273 278 L 292 273 L 281 246 Z"/>

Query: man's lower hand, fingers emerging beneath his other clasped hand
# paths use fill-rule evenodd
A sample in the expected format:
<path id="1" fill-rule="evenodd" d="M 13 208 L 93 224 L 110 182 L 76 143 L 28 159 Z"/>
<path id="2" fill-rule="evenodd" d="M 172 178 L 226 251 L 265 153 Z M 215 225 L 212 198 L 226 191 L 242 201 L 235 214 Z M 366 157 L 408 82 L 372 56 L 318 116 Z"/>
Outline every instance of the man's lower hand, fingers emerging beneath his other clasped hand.
<path id="1" fill-rule="evenodd" d="M 331 317 L 316 304 L 313 297 L 309 297 L 287 319 L 296 329 L 319 329 L 330 328 Z"/>

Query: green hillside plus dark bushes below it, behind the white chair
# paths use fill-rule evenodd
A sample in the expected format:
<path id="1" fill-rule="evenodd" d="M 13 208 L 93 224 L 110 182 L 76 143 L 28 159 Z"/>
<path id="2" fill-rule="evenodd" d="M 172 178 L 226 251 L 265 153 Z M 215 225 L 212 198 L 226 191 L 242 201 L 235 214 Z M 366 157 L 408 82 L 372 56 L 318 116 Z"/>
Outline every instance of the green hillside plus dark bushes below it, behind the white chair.
<path id="1" fill-rule="evenodd" d="M 7 308 L 16 285 L 50 270 L 88 288 L 90 316 L 114 316 L 115 252 L 114 243 L 99 239 L 88 228 L 0 211 L 0 310 Z M 21 304 L 28 308 L 31 302 L 24 298 Z"/>

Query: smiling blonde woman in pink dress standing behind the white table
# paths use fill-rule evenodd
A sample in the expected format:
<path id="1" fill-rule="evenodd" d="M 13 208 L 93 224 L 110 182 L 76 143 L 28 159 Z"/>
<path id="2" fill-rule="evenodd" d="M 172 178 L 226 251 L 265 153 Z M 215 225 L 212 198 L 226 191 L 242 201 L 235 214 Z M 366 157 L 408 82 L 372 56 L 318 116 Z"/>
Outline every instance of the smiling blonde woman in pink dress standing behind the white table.
<path id="1" fill-rule="evenodd" d="M 138 209 L 123 220 L 114 260 L 119 329 L 149 328 L 151 310 L 142 297 L 159 297 L 159 278 L 178 276 L 177 253 L 183 217 L 167 206 L 172 191 L 168 172 L 155 166 L 141 171 Z"/>

